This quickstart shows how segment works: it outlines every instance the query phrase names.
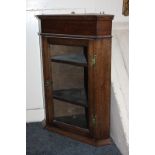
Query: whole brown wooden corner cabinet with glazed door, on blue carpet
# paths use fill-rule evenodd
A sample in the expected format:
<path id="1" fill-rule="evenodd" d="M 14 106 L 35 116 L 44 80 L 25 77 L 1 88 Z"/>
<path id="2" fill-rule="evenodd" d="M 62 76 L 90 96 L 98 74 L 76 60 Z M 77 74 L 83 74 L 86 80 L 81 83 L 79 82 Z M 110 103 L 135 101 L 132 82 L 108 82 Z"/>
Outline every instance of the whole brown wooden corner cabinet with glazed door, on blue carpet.
<path id="1" fill-rule="evenodd" d="M 45 128 L 84 143 L 110 144 L 113 15 L 37 15 Z"/>

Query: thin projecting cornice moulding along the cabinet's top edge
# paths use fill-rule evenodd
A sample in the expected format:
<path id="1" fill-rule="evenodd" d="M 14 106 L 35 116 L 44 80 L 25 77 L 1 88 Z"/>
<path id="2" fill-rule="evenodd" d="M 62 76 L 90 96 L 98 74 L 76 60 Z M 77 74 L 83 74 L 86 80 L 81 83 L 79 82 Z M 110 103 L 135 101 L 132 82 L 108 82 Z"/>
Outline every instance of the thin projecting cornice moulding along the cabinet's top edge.
<path id="1" fill-rule="evenodd" d="M 84 20 L 112 20 L 113 15 L 109 14 L 48 14 L 48 15 L 36 15 L 39 19 L 84 19 Z"/>

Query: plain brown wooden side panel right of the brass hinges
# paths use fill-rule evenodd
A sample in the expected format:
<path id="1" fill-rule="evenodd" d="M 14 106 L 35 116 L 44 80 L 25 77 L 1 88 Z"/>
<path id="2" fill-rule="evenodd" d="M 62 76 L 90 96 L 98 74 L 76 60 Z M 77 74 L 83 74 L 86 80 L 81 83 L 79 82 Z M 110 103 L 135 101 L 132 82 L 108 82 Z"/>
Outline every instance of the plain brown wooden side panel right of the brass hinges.
<path id="1" fill-rule="evenodd" d="M 94 54 L 95 138 L 103 139 L 110 130 L 111 39 L 95 41 Z"/>

